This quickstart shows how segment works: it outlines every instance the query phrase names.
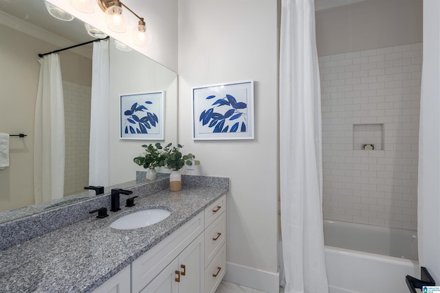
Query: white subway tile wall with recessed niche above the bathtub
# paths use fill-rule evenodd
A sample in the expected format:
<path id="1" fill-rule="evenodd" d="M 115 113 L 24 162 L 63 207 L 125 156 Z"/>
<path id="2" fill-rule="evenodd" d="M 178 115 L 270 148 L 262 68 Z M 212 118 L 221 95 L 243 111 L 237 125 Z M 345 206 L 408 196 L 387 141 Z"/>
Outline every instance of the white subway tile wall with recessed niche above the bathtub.
<path id="1" fill-rule="evenodd" d="M 417 229 L 421 63 L 422 43 L 319 58 L 325 219 Z"/>

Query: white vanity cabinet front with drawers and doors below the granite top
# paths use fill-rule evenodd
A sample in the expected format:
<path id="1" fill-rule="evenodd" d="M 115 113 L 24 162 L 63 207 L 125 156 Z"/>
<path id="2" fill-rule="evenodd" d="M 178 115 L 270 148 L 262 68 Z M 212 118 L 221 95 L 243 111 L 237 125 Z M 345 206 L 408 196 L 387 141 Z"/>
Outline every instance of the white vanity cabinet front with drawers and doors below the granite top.
<path id="1" fill-rule="evenodd" d="M 214 293 L 225 275 L 225 200 L 221 196 L 94 293 Z"/>

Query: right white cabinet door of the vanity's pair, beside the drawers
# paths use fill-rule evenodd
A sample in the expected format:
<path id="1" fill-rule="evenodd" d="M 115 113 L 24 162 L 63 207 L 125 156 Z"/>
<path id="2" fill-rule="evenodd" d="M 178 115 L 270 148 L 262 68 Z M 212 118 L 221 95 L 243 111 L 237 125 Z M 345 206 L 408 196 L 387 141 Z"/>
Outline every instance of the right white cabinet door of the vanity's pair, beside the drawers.
<path id="1" fill-rule="evenodd" d="M 179 293 L 204 293 L 204 235 L 201 233 L 179 255 Z"/>

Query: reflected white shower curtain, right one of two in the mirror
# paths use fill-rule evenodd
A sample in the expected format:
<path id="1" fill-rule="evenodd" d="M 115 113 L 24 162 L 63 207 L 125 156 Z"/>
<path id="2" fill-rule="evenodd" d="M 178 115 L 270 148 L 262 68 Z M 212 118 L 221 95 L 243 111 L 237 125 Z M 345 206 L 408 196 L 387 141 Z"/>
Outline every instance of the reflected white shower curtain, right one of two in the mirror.
<path id="1" fill-rule="evenodd" d="M 89 185 L 109 186 L 109 40 L 94 43 L 91 75 Z"/>

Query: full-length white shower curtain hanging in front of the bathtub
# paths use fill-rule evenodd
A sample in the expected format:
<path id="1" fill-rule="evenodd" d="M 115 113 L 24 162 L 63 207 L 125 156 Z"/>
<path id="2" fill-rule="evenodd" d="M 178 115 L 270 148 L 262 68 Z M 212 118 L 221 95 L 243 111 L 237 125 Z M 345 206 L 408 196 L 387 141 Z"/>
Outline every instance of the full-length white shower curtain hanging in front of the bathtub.
<path id="1" fill-rule="evenodd" d="M 328 292 L 314 0 L 283 0 L 280 51 L 281 234 L 285 292 Z"/>

